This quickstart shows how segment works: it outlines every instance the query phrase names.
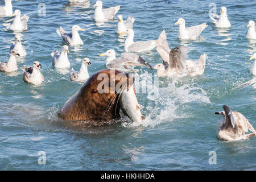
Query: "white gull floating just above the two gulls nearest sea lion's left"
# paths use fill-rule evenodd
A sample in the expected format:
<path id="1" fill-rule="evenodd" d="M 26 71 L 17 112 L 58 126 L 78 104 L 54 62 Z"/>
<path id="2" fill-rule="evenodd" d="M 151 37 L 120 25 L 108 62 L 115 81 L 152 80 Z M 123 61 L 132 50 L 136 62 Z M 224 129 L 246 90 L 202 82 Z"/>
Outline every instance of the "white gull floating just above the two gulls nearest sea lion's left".
<path id="1" fill-rule="evenodd" d="M 52 65 L 55 68 L 69 68 L 70 63 L 68 60 L 68 46 L 63 46 L 61 53 L 56 49 L 55 52 L 51 53 Z"/>

